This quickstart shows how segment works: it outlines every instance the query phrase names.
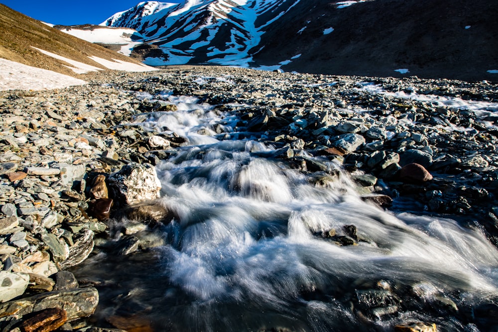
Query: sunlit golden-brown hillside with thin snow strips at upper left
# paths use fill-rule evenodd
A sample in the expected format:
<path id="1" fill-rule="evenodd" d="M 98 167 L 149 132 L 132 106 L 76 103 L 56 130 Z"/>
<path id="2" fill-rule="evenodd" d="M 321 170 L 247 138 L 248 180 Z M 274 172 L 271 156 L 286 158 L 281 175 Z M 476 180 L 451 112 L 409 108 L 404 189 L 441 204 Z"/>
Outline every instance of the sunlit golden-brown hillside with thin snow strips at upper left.
<path id="1" fill-rule="evenodd" d="M 71 66 L 67 61 L 47 55 L 47 52 L 77 61 L 82 66 L 86 65 L 94 70 L 106 70 L 109 66 L 120 63 L 130 63 L 136 68 L 141 66 L 122 54 L 62 33 L 3 4 L 0 4 L 0 31 L 0 58 L 28 66 L 78 77 L 77 73 L 69 68 Z M 45 51 L 45 54 L 36 48 Z M 101 64 L 105 61 L 107 66 Z"/>

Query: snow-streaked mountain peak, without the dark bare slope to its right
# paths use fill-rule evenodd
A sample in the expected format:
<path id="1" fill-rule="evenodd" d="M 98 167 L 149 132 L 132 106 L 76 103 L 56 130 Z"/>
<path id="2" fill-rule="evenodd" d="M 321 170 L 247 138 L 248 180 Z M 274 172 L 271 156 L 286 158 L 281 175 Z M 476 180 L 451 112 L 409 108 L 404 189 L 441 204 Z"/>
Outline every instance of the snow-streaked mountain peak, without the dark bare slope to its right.
<path id="1" fill-rule="evenodd" d="M 146 64 L 248 65 L 265 28 L 300 1 L 148 1 L 115 14 L 102 24 L 134 28 L 145 36 L 145 43 L 163 52 L 159 57 L 146 56 Z"/>

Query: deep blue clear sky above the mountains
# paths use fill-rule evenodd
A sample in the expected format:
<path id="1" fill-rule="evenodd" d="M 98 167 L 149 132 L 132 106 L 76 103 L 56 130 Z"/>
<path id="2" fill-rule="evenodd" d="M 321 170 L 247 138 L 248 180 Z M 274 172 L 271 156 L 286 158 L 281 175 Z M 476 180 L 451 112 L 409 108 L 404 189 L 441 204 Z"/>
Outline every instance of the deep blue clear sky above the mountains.
<path id="1" fill-rule="evenodd" d="M 61 25 L 100 24 L 109 16 L 129 9 L 138 2 L 140 0 L 0 0 L 0 3 L 32 18 Z"/>

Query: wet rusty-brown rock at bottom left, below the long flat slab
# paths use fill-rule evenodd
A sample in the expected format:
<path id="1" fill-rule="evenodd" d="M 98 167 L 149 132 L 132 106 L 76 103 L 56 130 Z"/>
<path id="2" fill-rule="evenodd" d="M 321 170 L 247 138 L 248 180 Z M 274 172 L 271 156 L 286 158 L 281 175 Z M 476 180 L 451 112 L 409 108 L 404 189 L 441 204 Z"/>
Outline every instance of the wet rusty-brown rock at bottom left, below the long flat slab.
<path id="1" fill-rule="evenodd" d="M 21 325 L 23 332 L 50 332 L 57 330 L 67 322 L 64 309 L 49 308 L 36 312 L 34 316 L 24 320 Z"/>

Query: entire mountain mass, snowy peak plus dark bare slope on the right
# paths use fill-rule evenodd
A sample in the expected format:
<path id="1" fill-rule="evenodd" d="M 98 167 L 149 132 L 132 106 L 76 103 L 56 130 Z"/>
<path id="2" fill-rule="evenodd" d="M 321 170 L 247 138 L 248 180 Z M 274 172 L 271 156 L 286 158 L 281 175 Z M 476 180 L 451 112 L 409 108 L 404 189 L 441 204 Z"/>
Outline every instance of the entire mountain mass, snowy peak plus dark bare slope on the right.
<path id="1" fill-rule="evenodd" d="M 149 65 L 496 80 L 497 12 L 489 0 L 148 1 L 102 25 L 141 34 L 131 56 Z"/>

